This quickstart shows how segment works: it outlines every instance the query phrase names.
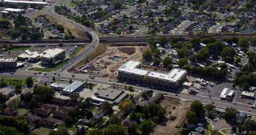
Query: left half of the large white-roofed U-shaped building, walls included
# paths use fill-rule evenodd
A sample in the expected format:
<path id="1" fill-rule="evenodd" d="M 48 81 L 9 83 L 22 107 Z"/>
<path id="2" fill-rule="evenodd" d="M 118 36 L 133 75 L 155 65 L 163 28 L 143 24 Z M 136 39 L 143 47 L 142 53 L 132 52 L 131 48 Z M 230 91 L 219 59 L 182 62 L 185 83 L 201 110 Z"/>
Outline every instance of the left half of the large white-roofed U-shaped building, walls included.
<path id="1" fill-rule="evenodd" d="M 130 60 L 117 69 L 118 77 L 138 82 L 145 82 L 145 75 L 149 72 L 141 68 L 141 61 Z"/>

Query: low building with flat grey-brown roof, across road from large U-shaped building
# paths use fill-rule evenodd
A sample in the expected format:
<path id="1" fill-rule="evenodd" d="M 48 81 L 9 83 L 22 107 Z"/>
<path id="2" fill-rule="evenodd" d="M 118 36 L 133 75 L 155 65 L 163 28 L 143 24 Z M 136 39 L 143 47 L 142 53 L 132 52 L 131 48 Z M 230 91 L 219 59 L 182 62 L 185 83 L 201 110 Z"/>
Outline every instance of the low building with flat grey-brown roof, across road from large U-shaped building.
<path id="1" fill-rule="evenodd" d="M 93 102 L 96 104 L 103 103 L 104 101 L 109 101 L 109 104 L 116 105 L 118 102 L 128 97 L 128 93 L 123 90 L 118 90 L 117 88 L 103 88 L 95 93 L 95 96 L 91 96 Z"/>

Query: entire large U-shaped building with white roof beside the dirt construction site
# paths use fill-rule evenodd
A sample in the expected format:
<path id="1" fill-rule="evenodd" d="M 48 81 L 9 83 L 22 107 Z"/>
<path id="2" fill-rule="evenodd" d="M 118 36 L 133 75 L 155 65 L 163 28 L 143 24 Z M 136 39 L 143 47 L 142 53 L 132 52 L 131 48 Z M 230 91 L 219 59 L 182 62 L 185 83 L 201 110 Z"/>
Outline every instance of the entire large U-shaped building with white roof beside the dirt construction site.
<path id="1" fill-rule="evenodd" d="M 168 74 L 165 74 L 140 69 L 140 67 L 141 61 L 127 61 L 117 69 L 118 77 L 168 88 L 178 88 L 186 80 L 187 71 L 184 69 L 174 68 Z"/>

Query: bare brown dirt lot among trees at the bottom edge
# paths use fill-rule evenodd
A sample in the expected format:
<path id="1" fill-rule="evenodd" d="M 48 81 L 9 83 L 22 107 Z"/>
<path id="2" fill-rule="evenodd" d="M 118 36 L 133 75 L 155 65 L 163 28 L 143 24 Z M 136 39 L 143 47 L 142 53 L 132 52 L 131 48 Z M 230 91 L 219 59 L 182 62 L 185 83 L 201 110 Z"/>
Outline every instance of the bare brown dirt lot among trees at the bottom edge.
<path id="1" fill-rule="evenodd" d="M 161 106 L 163 106 L 167 112 L 171 110 L 171 114 L 166 115 L 166 119 L 157 125 L 154 128 L 154 132 L 152 134 L 174 134 L 179 128 L 176 126 L 182 126 L 186 121 L 185 113 L 190 109 L 190 101 L 184 101 L 176 98 L 165 97 L 163 101 L 160 102 Z M 176 108 L 173 109 L 173 106 Z"/>

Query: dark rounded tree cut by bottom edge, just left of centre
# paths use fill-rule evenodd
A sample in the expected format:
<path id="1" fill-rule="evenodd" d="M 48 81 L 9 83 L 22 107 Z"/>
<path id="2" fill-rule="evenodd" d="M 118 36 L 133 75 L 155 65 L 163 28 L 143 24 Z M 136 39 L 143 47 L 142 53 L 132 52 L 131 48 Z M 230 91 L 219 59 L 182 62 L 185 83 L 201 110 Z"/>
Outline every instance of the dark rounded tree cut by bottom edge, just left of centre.
<path id="1" fill-rule="evenodd" d="M 128 135 L 122 125 L 109 125 L 103 131 L 104 135 Z"/>

